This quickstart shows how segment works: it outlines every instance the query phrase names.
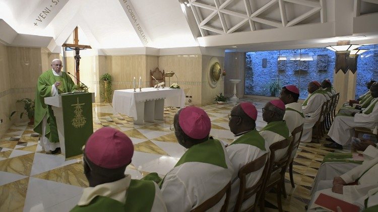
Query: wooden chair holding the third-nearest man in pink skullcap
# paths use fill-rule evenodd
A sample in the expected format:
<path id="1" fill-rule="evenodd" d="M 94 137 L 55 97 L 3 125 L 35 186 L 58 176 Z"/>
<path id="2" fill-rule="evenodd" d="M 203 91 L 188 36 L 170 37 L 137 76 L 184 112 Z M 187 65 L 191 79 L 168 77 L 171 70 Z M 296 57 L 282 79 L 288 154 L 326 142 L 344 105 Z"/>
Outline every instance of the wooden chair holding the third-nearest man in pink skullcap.
<path id="1" fill-rule="evenodd" d="M 267 170 L 268 170 L 268 163 L 269 163 L 268 156 L 269 156 L 268 153 L 266 153 L 263 156 L 261 156 L 260 158 L 254 160 L 252 162 L 249 162 L 249 163 L 245 164 L 244 166 L 242 166 L 240 168 L 240 170 L 238 172 L 238 177 L 239 177 L 239 181 L 240 181 L 239 193 L 237 195 L 234 212 L 240 211 L 241 205 L 243 204 L 243 202 L 245 200 L 249 199 L 254 194 L 256 194 L 255 203 L 250 205 L 248 208 L 246 208 L 243 211 L 251 211 L 256 207 L 256 205 L 257 205 L 256 203 L 258 203 L 259 199 L 260 199 L 263 181 L 266 177 Z M 256 172 L 256 171 L 260 170 L 264 166 L 265 166 L 265 168 L 264 168 L 263 174 L 260 177 L 260 180 L 254 186 L 246 188 L 245 187 L 246 186 L 246 179 L 245 179 L 246 176 L 248 174 L 252 173 L 252 172 Z"/>

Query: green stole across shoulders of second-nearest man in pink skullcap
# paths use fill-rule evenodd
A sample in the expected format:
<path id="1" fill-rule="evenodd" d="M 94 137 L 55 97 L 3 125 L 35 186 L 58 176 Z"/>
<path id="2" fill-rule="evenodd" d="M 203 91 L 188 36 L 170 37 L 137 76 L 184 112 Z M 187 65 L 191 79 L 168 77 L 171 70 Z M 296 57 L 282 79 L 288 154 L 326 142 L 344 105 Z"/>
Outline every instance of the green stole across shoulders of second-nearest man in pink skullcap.
<path id="1" fill-rule="evenodd" d="M 222 144 L 219 140 L 213 138 L 189 148 L 174 167 L 187 162 L 207 163 L 225 169 L 228 168 Z"/>

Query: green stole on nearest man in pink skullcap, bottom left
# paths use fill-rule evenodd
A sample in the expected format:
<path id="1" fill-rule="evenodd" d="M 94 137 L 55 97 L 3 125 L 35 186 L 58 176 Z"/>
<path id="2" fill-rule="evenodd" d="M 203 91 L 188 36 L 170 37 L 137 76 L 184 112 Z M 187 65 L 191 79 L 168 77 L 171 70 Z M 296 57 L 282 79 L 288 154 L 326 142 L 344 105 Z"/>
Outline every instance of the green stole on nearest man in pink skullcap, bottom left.
<path id="1" fill-rule="evenodd" d="M 107 196 L 96 196 L 88 205 L 76 205 L 71 212 L 96 211 L 151 211 L 155 200 L 155 184 L 152 181 L 131 180 L 125 203 Z"/>

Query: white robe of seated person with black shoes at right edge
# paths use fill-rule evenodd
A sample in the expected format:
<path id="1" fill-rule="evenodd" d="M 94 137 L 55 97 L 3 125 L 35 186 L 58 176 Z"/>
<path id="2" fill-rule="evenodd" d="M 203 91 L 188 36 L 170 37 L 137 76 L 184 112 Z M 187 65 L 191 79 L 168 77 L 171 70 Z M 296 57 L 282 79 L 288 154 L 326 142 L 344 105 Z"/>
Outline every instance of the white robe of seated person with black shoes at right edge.
<path id="1" fill-rule="evenodd" d="M 375 104 L 378 98 L 374 98 L 365 110 Z M 350 144 L 351 137 L 354 135 L 354 127 L 366 127 L 374 129 L 378 122 L 378 104 L 375 104 L 372 112 L 369 114 L 356 113 L 353 116 L 336 116 L 331 125 L 328 135 L 339 145 L 346 146 Z"/>

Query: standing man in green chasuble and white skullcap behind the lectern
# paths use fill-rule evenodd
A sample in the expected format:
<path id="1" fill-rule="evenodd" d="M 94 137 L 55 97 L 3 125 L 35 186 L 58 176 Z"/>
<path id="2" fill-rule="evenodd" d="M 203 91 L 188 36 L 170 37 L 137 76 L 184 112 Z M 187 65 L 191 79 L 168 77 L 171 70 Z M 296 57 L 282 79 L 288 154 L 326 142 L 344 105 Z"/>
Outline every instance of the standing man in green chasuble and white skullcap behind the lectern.
<path id="1" fill-rule="evenodd" d="M 72 79 L 61 71 L 62 67 L 60 59 L 52 60 L 52 69 L 39 76 L 35 92 L 34 131 L 41 134 L 40 145 L 46 153 L 55 154 L 60 146 L 54 113 L 44 98 L 77 91 Z"/>

